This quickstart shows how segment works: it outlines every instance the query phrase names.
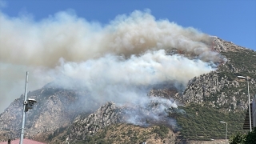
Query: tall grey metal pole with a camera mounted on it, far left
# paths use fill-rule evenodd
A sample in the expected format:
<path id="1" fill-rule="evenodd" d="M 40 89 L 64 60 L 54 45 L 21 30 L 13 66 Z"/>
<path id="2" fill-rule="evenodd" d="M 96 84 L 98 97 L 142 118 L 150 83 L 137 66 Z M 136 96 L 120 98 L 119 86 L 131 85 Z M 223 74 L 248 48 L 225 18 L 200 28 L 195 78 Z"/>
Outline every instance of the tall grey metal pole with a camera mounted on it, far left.
<path id="1" fill-rule="evenodd" d="M 25 94 L 24 94 L 24 102 L 23 102 L 23 113 L 22 113 L 22 133 L 21 133 L 21 138 L 19 141 L 19 144 L 23 143 L 23 137 L 24 137 L 24 127 L 25 127 L 25 118 L 26 118 L 26 90 L 27 90 L 27 83 L 29 79 L 29 72 L 26 72 L 26 84 L 25 84 Z"/>

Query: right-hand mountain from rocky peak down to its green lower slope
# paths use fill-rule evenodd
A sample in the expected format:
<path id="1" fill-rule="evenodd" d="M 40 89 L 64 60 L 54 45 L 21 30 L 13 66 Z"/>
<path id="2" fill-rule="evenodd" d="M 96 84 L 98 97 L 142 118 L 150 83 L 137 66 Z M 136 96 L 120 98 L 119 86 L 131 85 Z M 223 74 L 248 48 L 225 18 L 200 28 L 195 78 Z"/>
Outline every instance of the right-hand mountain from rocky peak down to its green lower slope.
<path id="1" fill-rule="evenodd" d="M 242 130 L 248 106 L 246 79 L 249 78 L 250 100 L 256 95 L 256 52 L 214 37 L 214 50 L 226 58 L 218 70 L 190 79 L 182 94 L 174 98 L 184 106 L 185 115 L 170 114 L 182 126 L 183 139 L 224 138 L 224 127 L 218 122 L 229 123 L 228 136 Z M 166 95 L 173 90 L 154 90 L 153 95 Z M 222 131 L 222 134 L 218 131 Z"/>

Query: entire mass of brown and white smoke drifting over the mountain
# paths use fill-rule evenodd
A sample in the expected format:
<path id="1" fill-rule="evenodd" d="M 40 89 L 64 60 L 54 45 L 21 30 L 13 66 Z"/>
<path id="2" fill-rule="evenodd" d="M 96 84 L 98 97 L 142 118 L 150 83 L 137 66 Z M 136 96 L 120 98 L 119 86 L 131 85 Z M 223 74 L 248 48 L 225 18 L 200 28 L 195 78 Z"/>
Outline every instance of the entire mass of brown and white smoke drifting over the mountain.
<path id="1" fill-rule="evenodd" d="M 68 86 L 66 78 L 73 78 L 94 100 L 144 105 L 152 100 L 150 88 L 170 83 L 182 89 L 190 78 L 215 70 L 220 58 L 207 34 L 138 10 L 106 26 L 70 11 L 40 22 L 0 12 L 0 43 L 1 109 L 23 93 L 26 70 L 30 90 L 55 78 Z"/>

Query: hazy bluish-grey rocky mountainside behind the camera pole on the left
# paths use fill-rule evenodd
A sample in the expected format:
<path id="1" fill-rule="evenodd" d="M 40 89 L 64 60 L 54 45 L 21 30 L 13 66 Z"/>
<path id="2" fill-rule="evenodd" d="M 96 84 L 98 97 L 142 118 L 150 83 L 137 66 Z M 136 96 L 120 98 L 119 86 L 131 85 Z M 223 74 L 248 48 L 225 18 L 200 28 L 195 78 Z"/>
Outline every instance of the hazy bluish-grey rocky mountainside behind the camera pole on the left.
<path id="1" fill-rule="evenodd" d="M 34 138 L 37 134 L 47 133 L 60 126 L 67 126 L 74 117 L 82 112 L 91 112 L 93 107 L 81 105 L 78 94 L 74 90 L 64 90 L 45 86 L 40 90 L 28 93 L 28 98 L 38 101 L 32 110 L 26 113 L 26 138 Z M 22 126 L 23 95 L 14 100 L 0 115 L 0 130 L 10 130 L 6 138 L 18 138 Z"/>

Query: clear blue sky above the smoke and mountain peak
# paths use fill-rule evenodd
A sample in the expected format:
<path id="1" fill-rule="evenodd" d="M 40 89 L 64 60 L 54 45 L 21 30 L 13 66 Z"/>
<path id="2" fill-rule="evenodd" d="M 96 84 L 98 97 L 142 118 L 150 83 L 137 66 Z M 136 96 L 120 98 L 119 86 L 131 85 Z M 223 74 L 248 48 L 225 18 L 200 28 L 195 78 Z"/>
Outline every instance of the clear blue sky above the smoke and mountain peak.
<path id="1" fill-rule="evenodd" d="M 216 35 L 239 46 L 256 50 L 256 1 L 0 1 L 2 13 L 9 17 L 30 14 L 35 21 L 58 11 L 72 9 L 80 18 L 103 25 L 118 14 L 149 9 L 156 19 L 168 19 L 180 26 L 192 26 L 203 33 Z"/>

